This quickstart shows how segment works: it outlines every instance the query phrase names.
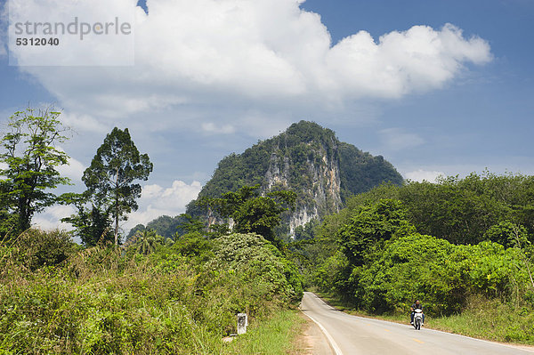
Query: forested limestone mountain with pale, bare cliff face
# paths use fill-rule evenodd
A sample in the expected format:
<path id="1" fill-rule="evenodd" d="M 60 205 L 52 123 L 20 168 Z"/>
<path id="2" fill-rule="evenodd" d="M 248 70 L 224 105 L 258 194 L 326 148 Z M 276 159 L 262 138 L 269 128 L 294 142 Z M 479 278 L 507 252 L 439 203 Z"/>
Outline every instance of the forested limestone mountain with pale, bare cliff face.
<path id="1" fill-rule="evenodd" d="M 293 190 L 298 196 L 295 210 L 283 216 L 281 230 L 293 234 L 295 227 L 338 212 L 346 198 L 383 182 L 402 182 L 383 157 L 373 157 L 338 141 L 331 130 L 301 121 L 240 155 L 223 158 L 199 198 L 256 183 L 263 192 Z M 188 213 L 195 212 L 193 201 Z"/>

